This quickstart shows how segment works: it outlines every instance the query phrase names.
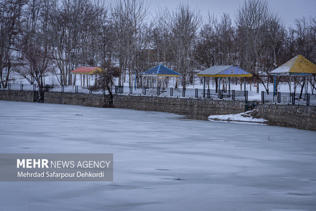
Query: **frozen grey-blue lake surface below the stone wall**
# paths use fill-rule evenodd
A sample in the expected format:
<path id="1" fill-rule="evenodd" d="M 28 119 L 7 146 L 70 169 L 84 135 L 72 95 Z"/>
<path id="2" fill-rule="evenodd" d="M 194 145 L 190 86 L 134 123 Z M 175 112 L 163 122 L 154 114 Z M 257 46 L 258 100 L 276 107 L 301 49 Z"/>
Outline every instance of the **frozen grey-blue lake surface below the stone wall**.
<path id="1" fill-rule="evenodd" d="M 0 210 L 316 210 L 316 132 L 0 101 L 0 153 L 114 153 L 113 182 L 0 182 Z"/>

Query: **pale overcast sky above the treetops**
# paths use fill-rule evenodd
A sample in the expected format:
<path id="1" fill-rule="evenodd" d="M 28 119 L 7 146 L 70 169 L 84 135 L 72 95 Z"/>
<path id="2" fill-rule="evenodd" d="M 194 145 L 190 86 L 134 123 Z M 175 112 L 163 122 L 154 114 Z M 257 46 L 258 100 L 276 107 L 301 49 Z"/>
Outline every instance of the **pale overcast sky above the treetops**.
<path id="1" fill-rule="evenodd" d="M 144 2 L 149 3 L 150 0 L 144 0 Z M 207 16 L 207 11 L 218 17 L 223 13 L 229 13 L 234 20 L 234 14 L 244 3 L 244 0 L 151 0 L 149 9 L 153 15 L 158 6 L 168 7 L 172 11 L 177 8 L 180 2 L 189 3 L 192 8 L 200 10 L 203 16 Z M 281 16 L 286 27 L 290 25 L 294 27 L 295 18 L 316 17 L 316 0 L 268 0 L 268 2 L 270 8 Z"/>

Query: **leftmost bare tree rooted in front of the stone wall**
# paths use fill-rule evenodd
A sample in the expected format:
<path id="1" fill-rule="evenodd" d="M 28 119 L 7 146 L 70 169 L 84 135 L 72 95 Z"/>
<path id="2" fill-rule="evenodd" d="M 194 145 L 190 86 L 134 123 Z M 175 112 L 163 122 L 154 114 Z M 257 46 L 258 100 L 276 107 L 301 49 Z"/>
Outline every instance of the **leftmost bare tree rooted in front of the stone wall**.
<path id="1" fill-rule="evenodd" d="M 20 67 L 33 78 L 39 89 L 39 101 L 44 98 L 44 76 L 51 71 L 51 46 L 48 36 L 49 1 L 32 0 L 28 4 L 23 29 L 22 52 L 27 65 Z"/>

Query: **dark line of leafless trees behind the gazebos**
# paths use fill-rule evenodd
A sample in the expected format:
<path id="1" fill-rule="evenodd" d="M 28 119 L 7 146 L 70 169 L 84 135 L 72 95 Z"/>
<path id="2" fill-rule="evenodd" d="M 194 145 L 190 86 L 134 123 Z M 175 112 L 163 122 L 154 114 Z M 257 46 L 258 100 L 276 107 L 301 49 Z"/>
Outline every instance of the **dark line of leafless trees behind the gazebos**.
<path id="1" fill-rule="evenodd" d="M 202 17 L 186 4 L 152 15 L 148 7 L 138 0 L 1 1 L 1 86 L 12 74 L 39 87 L 51 74 L 60 85 L 74 85 L 70 71 L 80 66 L 119 68 L 118 84 L 133 86 L 135 75 L 140 84 L 140 73 L 163 64 L 182 74 L 185 87 L 194 83 L 196 70 L 231 64 L 251 72 L 248 83 L 268 91 L 269 73 L 289 59 L 301 54 L 316 63 L 315 17 L 285 28 L 265 0 L 246 0 L 233 17 Z M 307 80 L 314 86 L 313 76 Z M 294 82 L 303 87 L 302 77 Z"/>

